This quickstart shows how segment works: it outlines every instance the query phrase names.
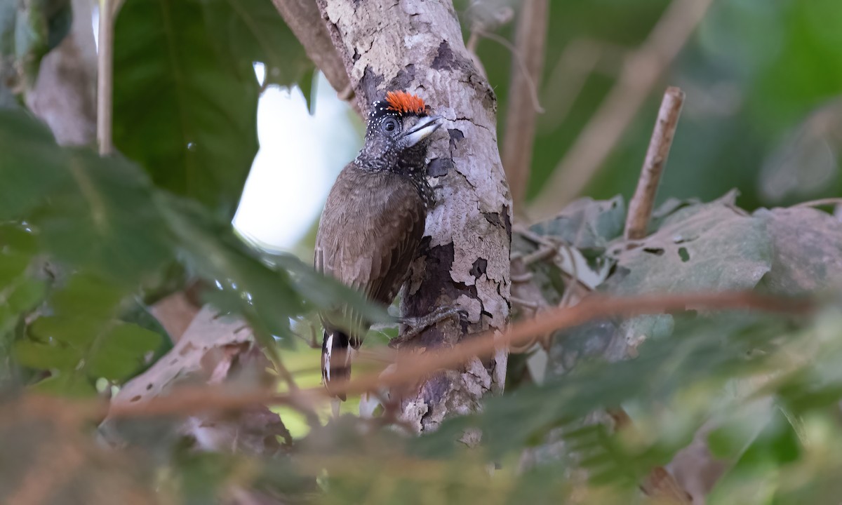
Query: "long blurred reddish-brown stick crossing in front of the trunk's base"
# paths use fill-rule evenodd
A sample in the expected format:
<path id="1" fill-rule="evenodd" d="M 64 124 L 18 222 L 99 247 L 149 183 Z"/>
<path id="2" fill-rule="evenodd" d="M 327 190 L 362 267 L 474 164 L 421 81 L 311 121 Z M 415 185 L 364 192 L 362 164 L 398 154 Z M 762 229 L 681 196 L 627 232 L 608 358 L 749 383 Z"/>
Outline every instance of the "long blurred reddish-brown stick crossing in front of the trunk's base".
<path id="1" fill-rule="evenodd" d="M 440 369 L 453 369 L 474 356 L 492 355 L 498 348 L 522 345 L 534 335 L 574 327 L 584 322 L 607 316 L 637 316 L 660 312 L 683 311 L 688 307 L 698 310 L 754 310 L 787 314 L 803 314 L 813 309 L 809 301 L 774 298 L 751 292 L 701 293 L 687 295 L 647 295 L 638 297 L 591 296 L 577 306 L 559 307 L 542 312 L 530 321 L 519 322 L 509 331 L 499 335 L 486 332 L 445 352 L 426 354 L 401 353 L 397 369 L 389 374 L 379 372 L 363 375 L 336 390 L 349 394 L 376 391 L 381 387 L 415 383 Z M 332 386 L 333 387 L 333 386 Z M 332 390 L 333 391 L 333 390 Z M 313 401 L 328 400 L 323 387 L 315 387 L 278 395 L 272 391 L 226 391 L 222 388 L 179 390 L 171 396 L 152 397 L 149 401 L 114 404 L 110 417 L 144 417 L 163 414 L 193 415 L 199 412 L 240 409 L 255 403 L 309 405 Z M 97 411 L 94 411 L 97 412 Z M 93 412 L 92 412 L 93 413 Z M 103 412 L 97 412 L 100 415 Z"/>

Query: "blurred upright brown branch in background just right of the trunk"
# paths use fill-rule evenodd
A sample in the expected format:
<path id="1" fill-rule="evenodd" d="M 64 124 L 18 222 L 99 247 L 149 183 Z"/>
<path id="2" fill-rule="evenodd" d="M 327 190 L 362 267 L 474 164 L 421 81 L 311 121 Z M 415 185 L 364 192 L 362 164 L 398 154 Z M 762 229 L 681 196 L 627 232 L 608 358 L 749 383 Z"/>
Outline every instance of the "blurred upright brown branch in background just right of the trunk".
<path id="1" fill-rule="evenodd" d="M 529 183 L 532 147 L 535 144 L 537 82 L 541 79 L 546 45 L 549 0 L 523 3 L 518 19 L 516 50 L 513 58 L 522 61 L 522 71 L 512 72 L 506 135 L 503 141 L 503 167 L 515 209 L 523 202 Z"/>

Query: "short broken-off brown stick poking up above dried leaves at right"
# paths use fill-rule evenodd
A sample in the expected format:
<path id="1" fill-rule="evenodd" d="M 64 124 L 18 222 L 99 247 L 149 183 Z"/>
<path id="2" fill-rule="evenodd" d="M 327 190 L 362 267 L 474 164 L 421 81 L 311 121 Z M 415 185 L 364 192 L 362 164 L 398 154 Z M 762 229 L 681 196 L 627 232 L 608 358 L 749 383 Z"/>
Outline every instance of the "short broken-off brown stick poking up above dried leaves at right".
<path id="1" fill-rule="evenodd" d="M 663 166 L 666 165 L 667 157 L 669 157 L 669 148 L 673 145 L 684 98 L 685 93 L 679 88 L 669 87 L 666 93 L 663 93 L 658 120 L 655 121 L 655 129 L 649 141 L 649 149 L 646 151 L 640 178 L 637 179 L 637 189 L 629 202 L 626 215 L 626 240 L 639 240 L 646 237 L 649 217 L 652 215 L 655 196 L 658 194 L 658 183 L 661 181 Z"/>

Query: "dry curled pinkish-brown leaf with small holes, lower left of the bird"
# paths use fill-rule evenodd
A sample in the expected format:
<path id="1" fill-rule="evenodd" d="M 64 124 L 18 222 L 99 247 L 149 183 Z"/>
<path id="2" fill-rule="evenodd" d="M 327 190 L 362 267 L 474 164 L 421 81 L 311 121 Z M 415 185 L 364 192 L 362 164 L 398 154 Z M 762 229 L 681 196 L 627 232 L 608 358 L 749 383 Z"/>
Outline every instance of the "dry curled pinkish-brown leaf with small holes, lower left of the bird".
<path id="1" fill-rule="evenodd" d="M 250 454 L 274 454 L 280 449 L 274 435 L 283 437 L 288 444 L 291 437 L 280 417 L 263 402 L 240 403 L 237 416 L 221 415 L 224 408 L 199 407 L 201 403 L 221 407 L 214 403 L 218 391 L 242 396 L 241 400 L 258 396 L 253 392 L 241 395 L 242 390 L 269 391 L 274 380 L 266 374 L 268 368 L 269 360 L 256 347 L 252 332 L 241 320 L 217 316 L 216 311 L 205 306 L 168 354 L 120 389 L 106 412 L 102 431 L 110 442 L 116 443 L 125 436 L 120 423 L 114 423 L 121 410 L 135 408 L 145 415 L 155 415 L 163 412 L 161 406 L 164 411 L 172 408 L 169 402 L 174 399 L 182 403 L 184 410 L 180 412 L 190 415 L 184 419 L 181 430 L 192 435 L 203 449 L 238 447 Z M 177 386 L 179 382 L 210 387 L 184 388 Z M 294 407 L 306 415 L 308 422 L 317 424 L 312 409 Z"/>

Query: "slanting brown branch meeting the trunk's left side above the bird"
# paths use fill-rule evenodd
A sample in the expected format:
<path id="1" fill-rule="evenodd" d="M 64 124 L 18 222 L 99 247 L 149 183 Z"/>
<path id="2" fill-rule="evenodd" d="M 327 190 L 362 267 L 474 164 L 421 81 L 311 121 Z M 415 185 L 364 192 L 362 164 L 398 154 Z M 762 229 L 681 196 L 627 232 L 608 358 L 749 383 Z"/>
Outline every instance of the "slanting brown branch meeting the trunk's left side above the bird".
<path id="1" fill-rule="evenodd" d="M 322 14 L 314 0 L 272 0 L 287 26 L 296 35 L 307 56 L 322 71 L 324 77 L 338 93 L 339 98 L 349 102 L 357 114 L 363 115 L 359 104 L 354 100 L 354 88 L 345 72 L 345 65 L 339 56 L 328 29 L 322 20 Z"/>

